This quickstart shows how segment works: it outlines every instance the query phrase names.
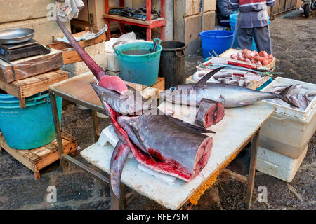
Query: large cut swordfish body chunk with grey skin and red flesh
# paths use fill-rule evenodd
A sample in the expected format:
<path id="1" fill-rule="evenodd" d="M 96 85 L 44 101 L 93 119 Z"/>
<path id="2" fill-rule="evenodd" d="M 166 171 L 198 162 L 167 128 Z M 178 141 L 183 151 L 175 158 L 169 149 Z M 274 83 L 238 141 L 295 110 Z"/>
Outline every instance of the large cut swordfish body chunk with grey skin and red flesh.
<path id="1" fill-rule="evenodd" d="M 174 123 L 168 116 L 144 114 L 133 117 L 120 116 L 117 122 L 140 150 L 156 160 L 138 162 L 157 172 L 190 181 L 206 165 L 211 155 L 213 145 L 211 137 L 192 132 Z M 207 146 L 203 148 L 204 145 Z M 139 157 L 137 154 L 139 153 L 134 155 L 136 160 Z M 203 165 L 198 167 L 197 162 L 200 160 L 203 160 Z"/>

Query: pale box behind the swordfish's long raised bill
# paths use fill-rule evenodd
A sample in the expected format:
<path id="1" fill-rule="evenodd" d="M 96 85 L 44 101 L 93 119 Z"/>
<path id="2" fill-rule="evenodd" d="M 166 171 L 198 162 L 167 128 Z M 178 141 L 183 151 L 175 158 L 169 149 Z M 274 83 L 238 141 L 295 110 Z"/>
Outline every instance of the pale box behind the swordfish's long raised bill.
<path id="1" fill-rule="evenodd" d="M 90 45 L 84 50 L 92 57 L 92 59 L 103 69 L 107 68 L 107 54 L 105 51 L 105 42 L 97 43 L 95 45 Z M 62 67 L 63 70 L 70 71 L 74 73 L 75 76 L 90 71 L 88 66 L 84 62 L 75 62 L 72 64 L 65 64 Z"/>

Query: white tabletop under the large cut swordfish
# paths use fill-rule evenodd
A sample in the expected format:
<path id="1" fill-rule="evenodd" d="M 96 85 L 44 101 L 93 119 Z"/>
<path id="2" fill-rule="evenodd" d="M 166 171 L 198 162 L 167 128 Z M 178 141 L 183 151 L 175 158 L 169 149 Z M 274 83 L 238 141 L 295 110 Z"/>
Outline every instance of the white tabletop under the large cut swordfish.
<path id="1" fill-rule="evenodd" d="M 181 107 L 180 105 L 166 103 L 166 108 L 173 109 L 176 118 L 189 123 L 193 123 L 195 120 L 196 107 Z M 159 109 L 164 111 L 164 104 L 161 104 Z M 167 209 L 179 209 L 232 155 L 243 148 L 249 138 L 270 118 L 274 111 L 274 106 L 268 106 L 263 102 L 257 102 L 251 106 L 225 109 L 223 120 L 209 127 L 210 130 L 216 132 L 216 134 L 207 134 L 213 137 L 213 148 L 209 162 L 189 182 L 176 179 L 175 183 L 169 186 L 138 169 L 138 162 L 134 158 L 126 160 L 121 174 L 121 181 L 129 188 L 156 201 Z M 80 155 L 91 164 L 109 173 L 113 149 L 114 147 L 110 144 L 101 147 L 96 143 L 81 151 Z M 244 182 L 245 180 L 242 179 L 241 181 Z"/>

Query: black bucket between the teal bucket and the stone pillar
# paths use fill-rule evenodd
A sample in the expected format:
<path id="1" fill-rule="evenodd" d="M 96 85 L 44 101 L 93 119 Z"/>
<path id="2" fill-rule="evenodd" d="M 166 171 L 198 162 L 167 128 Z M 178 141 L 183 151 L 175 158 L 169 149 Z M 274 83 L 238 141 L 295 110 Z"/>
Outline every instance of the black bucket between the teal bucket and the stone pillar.
<path id="1" fill-rule="evenodd" d="M 165 88 L 185 84 L 185 48 L 179 41 L 162 41 L 159 76 L 165 78 Z"/>

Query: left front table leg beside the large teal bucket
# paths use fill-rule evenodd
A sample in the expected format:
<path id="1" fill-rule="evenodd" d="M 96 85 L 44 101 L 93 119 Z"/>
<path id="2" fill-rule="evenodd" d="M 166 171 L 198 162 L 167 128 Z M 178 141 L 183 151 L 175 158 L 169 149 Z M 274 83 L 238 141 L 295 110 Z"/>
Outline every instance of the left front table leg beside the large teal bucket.
<path id="1" fill-rule="evenodd" d="M 58 144 L 57 148 L 58 148 L 59 159 L 60 159 L 60 167 L 62 168 L 62 172 L 65 172 L 67 169 L 66 167 L 67 162 L 65 160 L 62 160 L 62 154 L 64 153 L 64 148 L 62 146 L 62 136 L 60 133 L 60 122 L 58 118 L 57 103 L 56 103 L 55 94 L 53 94 L 51 91 L 49 91 L 49 98 L 51 99 L 51 111 L 53 113 L 56 140 Z"/>

